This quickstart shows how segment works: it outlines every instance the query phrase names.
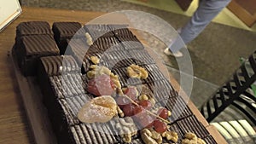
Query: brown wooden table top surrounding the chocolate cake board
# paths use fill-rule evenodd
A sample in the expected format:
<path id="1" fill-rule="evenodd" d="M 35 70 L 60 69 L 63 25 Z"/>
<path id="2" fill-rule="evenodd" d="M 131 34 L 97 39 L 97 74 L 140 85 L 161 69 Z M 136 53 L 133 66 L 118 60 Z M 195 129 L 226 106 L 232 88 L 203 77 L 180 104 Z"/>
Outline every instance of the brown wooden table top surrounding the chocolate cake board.
<path id="1" fill-rule="evenodd" d="M 15 43 L 15 27 L 22 21 L 44 20 L 51 25 L 55 21 L 79 21 L 86 23 L 104 14 L 101 12 L 84 12 L 60 9 L 22 8 L 23 13 L 11 23 L 3 32 L 0 32 L 0 143 L 28 144 L 34 143 L 32 130 L 26 117 L 26 112 L 21 100 L 15 72 L 9 59 L 9 50 Z M 172 76 L 171 76 L 172 77 Z M 177 82 L 171 78 L 175 88 Z M 195 105 L 189 101 L 189 107 L 196 117 L 207 127 L 218 143 L 225 143 L 218 131 L 201 116 Z"/>

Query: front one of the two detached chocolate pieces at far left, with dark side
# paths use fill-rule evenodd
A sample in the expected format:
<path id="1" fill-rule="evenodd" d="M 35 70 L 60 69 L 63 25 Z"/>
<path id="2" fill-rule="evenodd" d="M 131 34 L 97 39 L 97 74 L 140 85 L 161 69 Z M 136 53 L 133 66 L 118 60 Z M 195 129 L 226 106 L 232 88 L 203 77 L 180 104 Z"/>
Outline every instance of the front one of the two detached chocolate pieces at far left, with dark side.
<path id="1" fill-rule="evenodd" d="M 16 48 L 17 60 L 21 72 L 25 76 L 34 76 L 40 57 L 59 55 L 60 51 L 52 36 L 31 35 L 20 38 L 20 45 Z"/>

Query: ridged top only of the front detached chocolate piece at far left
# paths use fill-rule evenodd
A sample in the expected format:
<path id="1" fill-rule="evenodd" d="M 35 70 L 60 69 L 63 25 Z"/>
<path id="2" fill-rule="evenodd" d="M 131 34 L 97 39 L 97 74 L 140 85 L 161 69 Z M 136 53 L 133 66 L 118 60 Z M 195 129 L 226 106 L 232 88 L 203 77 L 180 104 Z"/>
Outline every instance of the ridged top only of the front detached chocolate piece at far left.
<path id="1" fill-rule="evenodd" d="M 31 35 L 21 37 L 23 49 L 26 51 L 26 56 L 40 55 L 59 55 L 55 40 L 49 35 Z"/>

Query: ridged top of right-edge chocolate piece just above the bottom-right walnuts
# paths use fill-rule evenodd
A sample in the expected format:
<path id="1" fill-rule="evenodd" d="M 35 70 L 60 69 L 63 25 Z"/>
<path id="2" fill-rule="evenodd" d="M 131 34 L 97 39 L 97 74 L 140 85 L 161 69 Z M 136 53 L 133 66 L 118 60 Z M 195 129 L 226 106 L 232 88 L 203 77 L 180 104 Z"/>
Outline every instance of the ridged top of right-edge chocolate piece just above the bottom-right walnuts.
<path id="1" fill-rule="evenodd" d="M 190 116 L 182 120 L 177 121 L 178 127 L 182 130 L 183 135 L 187 132 L 192 132 L 200 138 L 209 135 L 207 129 L 195 118 L 195 116 Z"/>

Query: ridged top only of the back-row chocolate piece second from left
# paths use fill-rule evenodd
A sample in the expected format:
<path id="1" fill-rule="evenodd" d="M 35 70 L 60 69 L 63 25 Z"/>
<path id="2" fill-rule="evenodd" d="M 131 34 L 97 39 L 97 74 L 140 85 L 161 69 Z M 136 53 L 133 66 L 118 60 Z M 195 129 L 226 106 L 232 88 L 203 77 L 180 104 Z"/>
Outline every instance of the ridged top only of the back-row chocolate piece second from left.
<path id="1" fill-rule="evenodd" d="M 79 22 L 55 22 L 53 23 L 52 30 L 57 37 L 73 37 L 73 35 L 81 28 Z"/>

